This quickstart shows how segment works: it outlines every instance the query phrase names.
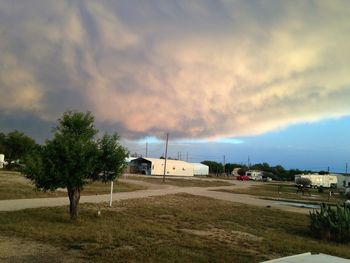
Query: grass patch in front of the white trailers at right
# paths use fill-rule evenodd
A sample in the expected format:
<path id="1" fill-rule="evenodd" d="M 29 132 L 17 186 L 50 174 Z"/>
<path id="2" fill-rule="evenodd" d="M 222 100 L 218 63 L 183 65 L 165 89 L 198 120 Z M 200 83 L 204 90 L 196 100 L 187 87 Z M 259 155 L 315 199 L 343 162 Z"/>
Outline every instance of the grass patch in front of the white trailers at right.
<path id="1" fill-rule="evenodd" d="M 250 188 L 246 189 L 219 189 L 217 191 L 228 192 L 228 193 L 237 193 L 237 194 L 249 194 L 260 197 L 267 198 L 278 198 L 278 199 L 286 199 L 286 200 L 302 200 L 309 202 L 326 202 L 326 203 L 337 203 L 344 202 L 345 197 L 339 193 L 332 195 L 329 198 L 329 191 L 325 190 L 323 193 L 319 193 L 317 189 L 310 189 L 305 192 L 304 195 L 302 193 L 297 193 L 297 188 L 292 184 L 286 183 L 273 183 L 268 184 L 264 183 L 261 185 L 253 185 Z"/>

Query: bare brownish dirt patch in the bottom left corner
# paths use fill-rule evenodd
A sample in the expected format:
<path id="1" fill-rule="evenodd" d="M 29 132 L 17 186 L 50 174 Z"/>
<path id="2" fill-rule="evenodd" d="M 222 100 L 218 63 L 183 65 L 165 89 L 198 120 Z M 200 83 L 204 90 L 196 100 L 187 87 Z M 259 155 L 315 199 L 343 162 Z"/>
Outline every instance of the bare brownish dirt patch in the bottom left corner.
<path id="1" fill-rule="evenodd" d="M 79 255 L 72 250 L 67 252 L 59 247 L 32 240 L 0 236 L 0 262 L 73 263 L 83 260 L 79 260 Z"/>

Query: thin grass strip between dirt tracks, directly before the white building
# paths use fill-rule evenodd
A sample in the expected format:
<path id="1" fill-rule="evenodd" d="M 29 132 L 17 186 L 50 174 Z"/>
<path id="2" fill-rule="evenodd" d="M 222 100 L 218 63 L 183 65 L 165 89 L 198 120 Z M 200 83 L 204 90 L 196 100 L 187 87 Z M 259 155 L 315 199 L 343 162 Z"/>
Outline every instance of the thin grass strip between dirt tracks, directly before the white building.
<path id="1" fill-rule="evenodd" d="M 144 181 L 152 184 L 164 184 L 162 178 L 137 177 L 128 176 L 128 179 Z M 232 183 L 215 180 L 196 180 L 196 179 L 181 179 L 181 178 L 166 178 L 165 184 L 180 186 L 180 187 L 212 187 L 212 186 L 229 186 Z"/>

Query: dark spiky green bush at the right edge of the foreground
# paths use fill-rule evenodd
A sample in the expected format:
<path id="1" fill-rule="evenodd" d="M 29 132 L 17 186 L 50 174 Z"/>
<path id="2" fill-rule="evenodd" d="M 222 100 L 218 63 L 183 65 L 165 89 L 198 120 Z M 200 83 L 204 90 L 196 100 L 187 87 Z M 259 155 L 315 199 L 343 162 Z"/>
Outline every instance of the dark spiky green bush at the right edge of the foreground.
<path id="1" fill-rule="evenodd" d="M 332 209 L 330 205 L 321 204 L 320 211 L 310 212 L 310 230 L 319 239 L 350 242 L 350 209 L 339 205 Z"/>

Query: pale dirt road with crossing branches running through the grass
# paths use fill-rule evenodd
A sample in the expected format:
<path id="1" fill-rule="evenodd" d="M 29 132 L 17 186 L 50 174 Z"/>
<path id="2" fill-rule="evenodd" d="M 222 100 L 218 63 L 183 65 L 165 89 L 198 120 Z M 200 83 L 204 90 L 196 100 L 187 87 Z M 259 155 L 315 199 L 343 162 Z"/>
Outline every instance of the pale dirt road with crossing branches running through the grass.
<path id="1" fill-rule="evenodd" d="M 215 179 L 216 180 L 216 179 Z M 246 188 L 253 184 L 254 182 L 241 182 L 234 181 L 234 185 L 230 186 L 219 186 L 219 187 L 178 187 L 167 184 L 152 184 L 149 182 L 131 180 L 131 179 L 120 179 L 121 182 L 127 182 L 132 184 L 139 184 L 146 186 L 148 189 L 139 190 L 134 192 L 122 192 L 114 193 L 113 201 L 133 198 L 145 198 L 149 196 L 162 196 L 168 194 L 177 193 L 188 193 L 199 196 L 211 197 L 219 200 L 225 200 L 230 202 L 255 205 L 267 208 L 276 208 L 284 211 L 298 212 L 298 213 L 308 213 L 309 209 L 297 208 L 292 206 L 287 206 L 279 204 L 278 201 L 259 199 L 250 195 L 234 194 L 215 191 L 218 189 L 237 189 Z M 80 203 L 103 203 L 109 202 L 110 195 L 92 195 L 92 196 L 82 196 Z M 69 205 L 69 200 L 67 197 L 57 197 L 57 198 L 33 198 L 33 199 L 16 199 L 16 200 L 1 200 L 0 201 L 0 211 L 14 211 L 27 208 L 38 208 L 38 207 L 53 207 L 53 206 L 64 206 Z"/>

